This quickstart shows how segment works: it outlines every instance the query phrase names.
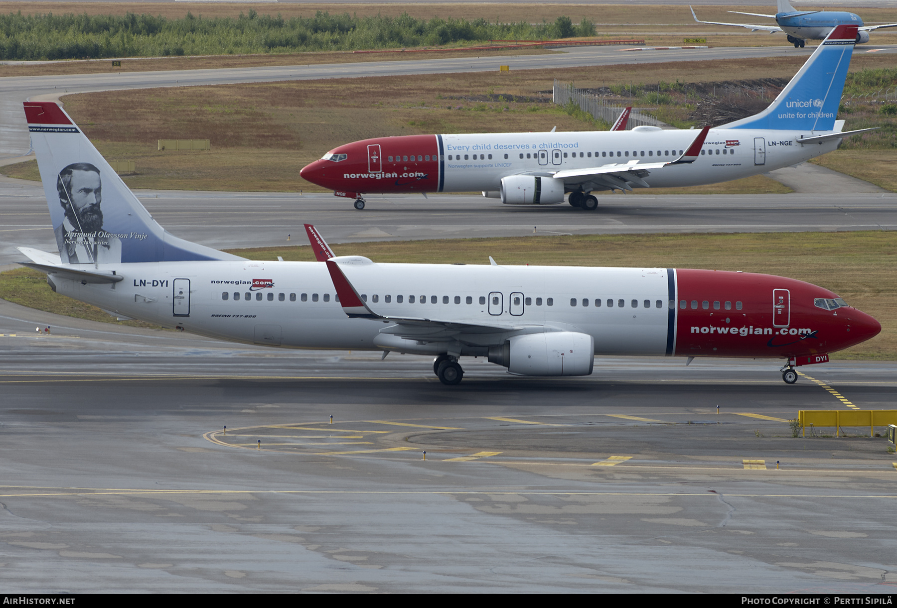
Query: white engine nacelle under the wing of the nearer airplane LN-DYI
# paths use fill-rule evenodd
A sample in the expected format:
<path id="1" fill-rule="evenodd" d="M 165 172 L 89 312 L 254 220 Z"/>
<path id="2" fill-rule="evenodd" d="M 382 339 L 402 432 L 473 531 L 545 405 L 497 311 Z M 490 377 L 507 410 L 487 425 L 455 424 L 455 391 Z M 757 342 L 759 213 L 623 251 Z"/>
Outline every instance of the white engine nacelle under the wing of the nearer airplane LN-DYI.
<path id="1" fill-rule="evenodd" d="M 515 335 L 489 349 L 489 362 L 521 376 L 588 376 L 595 365 L 595 338 L 578 332 Z"/>

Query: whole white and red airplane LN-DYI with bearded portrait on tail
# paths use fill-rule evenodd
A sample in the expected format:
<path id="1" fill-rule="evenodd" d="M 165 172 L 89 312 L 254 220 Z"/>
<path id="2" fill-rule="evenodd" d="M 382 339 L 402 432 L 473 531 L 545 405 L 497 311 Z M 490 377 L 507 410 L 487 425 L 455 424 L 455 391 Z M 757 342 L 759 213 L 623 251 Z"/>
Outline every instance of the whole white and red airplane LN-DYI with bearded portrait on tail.
<path id="1" fill-rule="evenodd" d="M 752 357 L 795 366 L 878 334 L 837 294 L 767 274 L 675 268 L 253 261 L 152 219 L 57 104 L 25 102 L 58 252 L 20 248 L 50 287 L 120 317 L 239 343 L 461 357 L 526 376 L 583 376 L 595 355 Z"/>

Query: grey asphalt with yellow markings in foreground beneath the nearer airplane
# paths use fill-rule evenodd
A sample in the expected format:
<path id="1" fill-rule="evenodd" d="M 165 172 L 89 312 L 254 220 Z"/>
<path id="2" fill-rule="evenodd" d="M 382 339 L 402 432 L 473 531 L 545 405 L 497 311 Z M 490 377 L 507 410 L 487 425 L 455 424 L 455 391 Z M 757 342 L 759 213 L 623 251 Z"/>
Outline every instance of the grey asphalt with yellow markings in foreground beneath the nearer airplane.
<path id="1" fill-rule="evenodd" d="M 884 439 L 792 439 L 798 409 L 839 402 L 768 362 L 599 359 L 592 377 L 540 379 L 470 361 L 448 389 L 420 357 L 272 351 L 2 302 L 0 327 L 7 593 L 897 581 Z M 813 368 L 858 407 L 897 397 L 893 363 Z"/>

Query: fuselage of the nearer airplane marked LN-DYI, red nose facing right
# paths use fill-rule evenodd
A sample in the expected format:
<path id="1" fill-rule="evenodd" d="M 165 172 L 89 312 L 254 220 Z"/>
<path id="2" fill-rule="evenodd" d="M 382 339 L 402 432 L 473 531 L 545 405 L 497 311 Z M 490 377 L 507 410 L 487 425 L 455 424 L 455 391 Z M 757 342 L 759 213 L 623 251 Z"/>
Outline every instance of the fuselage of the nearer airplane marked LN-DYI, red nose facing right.
<path id="1" fill-rule="evenodd" d="M 51 277 L 54 289 L 119 315 L 240 343 L 485 356 L 511 334 L 574 331 L 606 355 L 793 358 L 877 333 L 856 308 L 820 308 L 831 291 L 766 274 L 666 268 L 369 264 L 353 285 L 386 317 L 504 329 L 415 340 L 383 319 L 347 318 L 326 265 L 166 262 L 100 265 L 117 283 Z M 507 335 L 506 335 L 507 334 Z"/>

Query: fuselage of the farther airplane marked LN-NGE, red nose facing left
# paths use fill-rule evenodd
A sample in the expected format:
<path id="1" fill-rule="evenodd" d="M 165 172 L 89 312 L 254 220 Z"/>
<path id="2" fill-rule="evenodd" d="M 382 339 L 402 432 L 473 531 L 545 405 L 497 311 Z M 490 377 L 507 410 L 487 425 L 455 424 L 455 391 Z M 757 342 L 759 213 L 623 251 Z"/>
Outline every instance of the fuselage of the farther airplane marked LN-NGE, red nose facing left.
<path id="1" fill-rule="evenodd" d="M 794 109 L 794 113 L 806 109 Z M 302 169 L 303 178 L 345 195 L 407 192 L 497 192 L 501 179 L 521 173 L 551 176 L 563 169 L 617 163 L 622 167 L 674 161 L 694 130 L 637 127 L 632 131 L 405 135 L 346 143 Z M 837 140 L 797 143 L 810 132 L 710 129 L 691 164 L 650 169 L 648 187 L 699 186 L 788 167 L 831 152 Z M 638 180 L 636 180 L 638 181 Z M 632 187 L 645 187 L 638 183 Z M 594 189 L 610 189 L 595 187 Z"/>

